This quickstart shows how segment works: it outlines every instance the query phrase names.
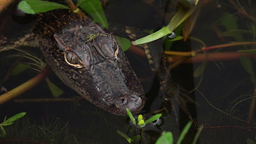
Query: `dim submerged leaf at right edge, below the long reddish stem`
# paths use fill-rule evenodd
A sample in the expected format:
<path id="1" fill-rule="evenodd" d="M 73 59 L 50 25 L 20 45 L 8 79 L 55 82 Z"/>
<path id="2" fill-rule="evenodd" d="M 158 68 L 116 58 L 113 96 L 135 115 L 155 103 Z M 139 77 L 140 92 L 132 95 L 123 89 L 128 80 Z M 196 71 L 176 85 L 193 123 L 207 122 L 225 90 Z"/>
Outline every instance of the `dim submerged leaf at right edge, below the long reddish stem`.
<path id="1" fill-rule="evenodd" d="M 254 66 L 252 64 L 252 61 L 250 58 L 246 57 L 246 56 L 240 56 L 240 61 L 242 63 L 242 66 L 244 67 L 244 69 L 251 75 L 251 80 L 254 83 L 254 85 L 256 85 L 256 78 L 255 78 L 255 74 L 254 74 Z"/>

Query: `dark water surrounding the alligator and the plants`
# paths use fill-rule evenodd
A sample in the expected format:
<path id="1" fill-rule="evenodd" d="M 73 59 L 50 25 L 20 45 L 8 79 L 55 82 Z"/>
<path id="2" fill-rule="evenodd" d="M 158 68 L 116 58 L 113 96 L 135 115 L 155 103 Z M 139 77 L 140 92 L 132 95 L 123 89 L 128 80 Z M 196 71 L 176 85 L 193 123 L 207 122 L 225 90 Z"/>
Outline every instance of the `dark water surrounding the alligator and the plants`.
<path id="1" fill-rule="evenodd" d="M 168 4 L 168 6 L 166 6 Z M 221 7 L 219 7 L 221 6 Z M 254 16 L 255 18 L 255 2 L 248 4 L 246 2 L 242 3 L 242 6 L 248 8 L 246 12 L 249 15 Z M 134 26 L 140 29 L 154 29 L 155 31 L 160 29 L 161 26 L 168 24 L 174 12 L 177 8 L 176 2 L 166 2 L 164 1 L 118 1 L 112 0 L 109 1 L 105 8 L 105 14 L 108 19 L 108 22 L 118 23 L 127 26 Z M 166 12 L 166 14 L 164 14 Z M 229 2 L 208 2 L 202 5 L 202 8 L 199 12 L 199 16 L 191 32 L 190 36 L 202 40 L 207 46 L 215 46 L 220 44 L 227 44 L 230 42 L 236 42 L 232 37 L 224 37 L 220 40 L 217 36 L 218 28 L 221 32 L 225 32 L 226 28 L 221 24 L 220 18 L 225 13 L 233 14 L 236 18 L 237 25 L 239 29 L 243 30 L 252 30 L 252 27 L 255 28 L 255 21 L 249 20 L 246 16 L 240 15 L 237 13 L 237 10 Z M 1 34 L 13 34 L 18 35 L 20 32 L 23 32 L 24 29 L 28 29 L 33 25 L 33 17 L 26 16 L 14 16 L 15 6 L 7 9 L 6 12 L 1 14 Z M 20 20 L 21 19 L 21 20 Z M 25 21 L 25 22 L 24 22 Z M 255 30 L 255 29 L 254 29 Z M 235 33 L 238 34 L 238 33 Z M 238 34 L 239 35 L 239 34 Z M 255 42 L 255 32 L 253 34 L 242 34 L 242 37 L 246 41 Z M 172 50 L 177 51 L 191 51 L 201 48 L 202 44 L 198 42 L 187 40 L 183 42 L 182 40 L 175 42 L 172 46 Z M 253 49 L 255 45 L 250 46 L 236 46 L 215 49 L 208 52 L 212 53 L 221 53 L 221 52 L 236 52 L 241 49 Z M 36 48 L 24 48 L 32 52 L 37 56 L 40 55 L 40 50 Z M 0 79 L 2 86 L 7 90 L 11 90 L 16 86 L 22 84 L 28 79 L 36 76 L 37 72 L 33 70 L 26 70 L 17 76 L 10 76 L 8 80 L 4 80 L 8 70 L 12 67 L 12 64 L 16 62 L 17 58 L 6 58 L 8 55 L 12 55 L 16 52 L 4 52 L 0 53 Z M 128 52 L 129 53 L 129 52 Z M 134 54 L 128 54 L 134 55 Z M 140 77 L 150 76 L 150 72 L 141 65 L 140 60 L 135 58 L 131 60 L 132 65 L 134 66 L 135 72 Z M 136 60 L 139 60 L 136 61 Z M 255 75 L 255 55 L 250 57 L 252 61 L 252 69 L 254 70 Z M 181 64 L 180 66 L 172 70 L 172 78 L 174 81 L 179 83 L 182 87 L 186 88 L 188 91 L 195 88 L 200 82 L 200 86 L 197 88 L 210 102 L 198 92 L 197 90 L 191 93 L 191 97 L 196 100 L 200 106 L 194 104 L 188 104 L 188 109 L 192 114 L 192 118 L 200 124 L 204 124 L 205 128 L 202 130 L 198 138 L 198 143 L 203 144 L 242 144 L 246 143 L 246 139 L 250 138 L 255 142 L 255 107 L 251 123 L 244 122 L 248 121 L 248 113 L 250 111 L 251 102 L 254 99 L 250 97 L 255 97 L 255 86 L 252 83 L 250 74 L 242 66 L 239 57 L 235 60 L 215 60 L 207 61 L 205 69 L 203 70 L 202 80 L 200 77 L 193 77 L 193 72 L 203 64 L 204 60 L 201 62 Z M 138 63 L 140 63 L 138 65 Z M 144 64 L 144 63 L 142 63 Z M 146 66 L 147 67 L 147 66 Z M 145 71 L 146 70 L 146 71 Z M 144 72 L 145 71 L 145 72 Z M 74 98 L 78 96 L 76 92 L 65 86 L 52 72 L 49 76 L 49 79 L 59 88 L 64 91 L 64 94 L 60 98 Z M 163 108 L 162 105 L 152 101 L 154 96 L 158 92 L 158 82 L 153 82 L 154 78 L 151 79 L 151 83 L 144 82 L 145 91 L 147 92 L 146 96 L 148 98 L 144 110 L 141 114 L 146 114 L 146 112 L 154 111 Z M 150 82 L 151 82 L 150 81 Z M 3 94 L 2 92 L 1 94 Z M 240 97 L 240 98 L 238 98 Z M 27 98 L 53 98 L 52 93 L 50 92 L 45 81 L 35 86 L 32 90 L 29 90 L 25 94 L 17 97 L 16 99 L 27 99 Z M 238 98 L 237 102 L 248 98 L 237 104 L 233 109 L 232 107 L 236 104 L 233 102 Z M 250 98 L 250 99 L 249 99 Z M 78 106 L 79 104 L 79 106 Z M 215 108 L 214 108 L 214 107 Z M 217 108 L 219 110 L 217 110 Z M 169 105 L 170 109 L 170 105 Z M 230 110 L 232 111 L 230 112 Z M 220 110 L 231 114 L 231 117 Z M 52 123 L 52 126 L 58 126 L 60 130 L 68 130 L 68 134 L 56 139 L 53 143 L 75 143 L 64 140 L 64 137 L 71 136 L 70 139 L 74 139 L 70 133 L 74 134 L 78 142 L 81 143 L 127 143 L 125 138 L 120 136 L 116 130 L 120 130 L 127 134 L 129 137 L 132 135 L 138 134 L 138 131 L 134 131 L 134 127 L 131 129 L 128 116 L 115 116 L 104 110 L 101 110 L 91 104 L 86 100 L 79 100 L 75 102 L 14 102 L 11 100 L 6 104 L 0 106 L 0 122 L 4 120 L 4 116 L 7 115 L 7 118 L 18 114 L 20 112 L 27 112 L 26 118 L 30 118 L 31 124 L 33 125 L 36 122 L 36 125 L 42 126 L 42 119 L 44 123 Z M 140 143 L 154 143 L 155 140 L 160 136 L 163 131 L 171 131 L 174 134 L 175 140 L 179 136 L 179 132 L 182 130 L 184 125 L 188 122 L 188 117 L 180 110 L 179 124 L 174 118 L 174 113 L 169 111 L 162 112 L 163 116 L 162 124 L 160 124 L 160 130 L 156 126 L 147 126 L 144 128 L 144 138 Z M 24 119 L 25 122 L 28 122 L 28 119 Z M 59 118 L 59 119 L 57 119 Z M 240 120 L 239 120 L 240 119 Z M 57 120 L 57 122 L 55 122 Z M 243 121 L 244 120 L 244 121 Z M 20 124 L 22 124 L 20 120 Z M 55 122 L 55 123 L 54 123 Z M 61 129 L 68 122 L 68 128 Z M 18 122 L 17 122 L 18 123 Z M 58 125 L 59 124 L 59 125 Z M 16 124 L 17 126 L 17 124 Z M 21 126 L 19 126 L 21 127 Z M 31 127 L 31 126 L 30 126 Z M 19 136 L 14 137 L 14 131 L 16 132 L 17 128 L 12 128 L 11 126 L 5 127 L 8 140 L 19 139 Z M 9 131 L 8 131 L 9 128 Z M 28 128 L 28 126 L 26 127 Z M 48 127 L 50 128 L 50 127 Z M 25 129 L 25 128 L 24 128 Z M 31 129 L 28 129 L 31 130 Z M 40 129 L 42 131 L 42 129 Z M 40 131 L 39 130 L 39 131 Z M 53 130 L 53 129 L 51 129 Z M 9 132 L 9 133 L 8 133 Z M 10 134 L 12 133 L 12 134 Z M 189 144 L 192 142 L 194 135 L 196 133 L 196 127 L 192 124 L 191 130 L 188 132 L 184 143 Z M 18 135 L 18 134 L 17 134 Z M 29 135 L 29 134 L 28 134 Z M 36 138 L 31 138 L 28 136 L 27 140 L 42 140 L 43 135 L 38 134 Z M 48 134 L 50 136 L 51 133 Z M 41 138 L 41 139 L 40 139 Z M 51 138 L 48 138 L 49 140 Z M 49 142 L 49 141 L 47 141 Z M 10 142 L 12 143 L 12 142 Z M 21 143 L 21 142 L 20 142 Z"/>

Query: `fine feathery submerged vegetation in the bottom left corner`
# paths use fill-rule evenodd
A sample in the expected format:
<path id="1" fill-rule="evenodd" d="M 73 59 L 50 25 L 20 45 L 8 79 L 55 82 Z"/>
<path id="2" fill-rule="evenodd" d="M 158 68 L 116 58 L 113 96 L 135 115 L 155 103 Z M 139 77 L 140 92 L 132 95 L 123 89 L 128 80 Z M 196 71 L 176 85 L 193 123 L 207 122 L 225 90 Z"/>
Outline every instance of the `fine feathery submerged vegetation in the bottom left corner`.
<path id="1" fill-rule="evenodd" d="M 3 131 L 0 134 L 4 134 Z M 6 128 L 6 135 L 0 138 L 1 144 L 86 144 L 90 140 L 78 138 L 77 131 L 70 133 L 68 122 L 55 118 L 51 122 L 34 123 L 22 118 Z"/>

